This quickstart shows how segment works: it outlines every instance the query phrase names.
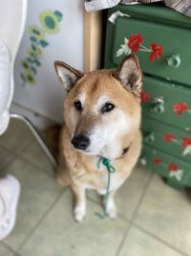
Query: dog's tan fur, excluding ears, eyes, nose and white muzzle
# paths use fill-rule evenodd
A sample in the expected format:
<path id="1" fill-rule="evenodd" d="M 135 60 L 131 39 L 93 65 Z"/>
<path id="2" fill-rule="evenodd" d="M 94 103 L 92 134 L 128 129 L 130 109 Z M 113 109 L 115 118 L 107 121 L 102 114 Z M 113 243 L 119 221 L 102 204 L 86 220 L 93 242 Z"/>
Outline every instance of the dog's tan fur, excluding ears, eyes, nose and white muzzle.
<path id="1" fill-rule="evenodd" d="M 76 133 L 85 133 L 95 125 L 109 126 L 117 122 L 118 114 L 110 114 L 107 118 L 103 117 L 98 110 L 93 109 L 100 96 L 104 95 L 110 99 L 131 120 L 131 124 L 128 124 L 128 132 L 124 131 L 117 137 L 117 144 L 121 151 L 115 159 L 112 159 L 116 173 L 112 175 L 111 189 L 113 191 L 108 199 L 108 215 L 111 218 L 116 218 L 117 215 L 114 194 L 131 174 L 141 150 L 139 98 L 126 90 L 113 76 L 113 73 L 113 70 L 99 70 L 85 74 L 76 81 L 64 103 L 65 124 L 59 139 L 57 180 L 61 184 L 70 185 L 74 191 L 76 221 L 81 221 L 85 215 L 86 188 L 96 189 L 99 194 L 106 193 L 108 174 L 104 166 L 97 170 L 96 164 L 99 156 L 75 151 L 71 144 L 74 128 Z M 86 98 L 83 105 L 84 112 L 81 115 L 74 110 L 74 100 L 79 94 L 84 94 Z M 130 147 L 129 151 L 121 157 L 122 150 L 127 147 Z"/>

